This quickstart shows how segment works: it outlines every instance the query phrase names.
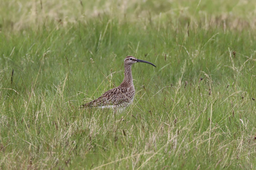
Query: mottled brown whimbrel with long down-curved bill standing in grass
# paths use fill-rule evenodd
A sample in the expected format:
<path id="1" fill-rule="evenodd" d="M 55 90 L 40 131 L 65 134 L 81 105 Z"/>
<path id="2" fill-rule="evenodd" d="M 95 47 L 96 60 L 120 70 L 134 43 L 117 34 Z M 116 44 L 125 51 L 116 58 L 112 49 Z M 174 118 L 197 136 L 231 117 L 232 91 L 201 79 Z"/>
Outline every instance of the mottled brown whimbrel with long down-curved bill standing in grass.
<path id="1" fill-rule="evenodd" d="M 132 103 L 135 96 L 135 88 L 132 81 L 132 73 L 131 73 L 131 65 L 133 63 L 143 62 L 147 64 L 151 64 L 156 67 L 154 64 L 139 60 L 133 56 L 127 56 L 124 61 L 125 67 L 125 77 L 123 82 L 115 88 L 106 91 L 99 98 L 83 104 L 82 108 L 89 107 L 100 107 L 100 108 L 113 108 L 115 111 L 122 112 L 129 104 Z"/>

